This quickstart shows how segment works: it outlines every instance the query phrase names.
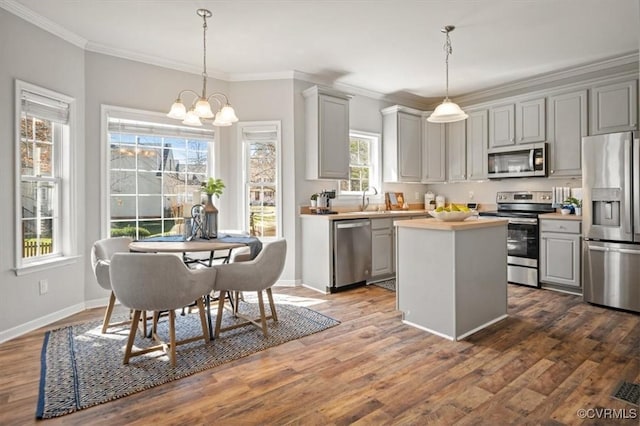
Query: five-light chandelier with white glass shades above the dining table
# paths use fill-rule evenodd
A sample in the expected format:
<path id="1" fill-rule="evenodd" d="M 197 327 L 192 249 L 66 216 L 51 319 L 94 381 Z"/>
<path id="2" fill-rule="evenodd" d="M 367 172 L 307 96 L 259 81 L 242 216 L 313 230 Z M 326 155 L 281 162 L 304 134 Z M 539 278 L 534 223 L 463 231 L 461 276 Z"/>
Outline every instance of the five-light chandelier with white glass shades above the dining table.
<path id="1" fill-rule="evenodd" d="M 229 99 L 223 93 L 212 93 L 207 96 L 207 18 L 211 18 L 213 14 L 207 9 L 198 9 L 196 11 L 198 16 L 202 17 L 202 94 L 199 94 L 195 90 L 185 89 L 178 93 L 171 110 L 167 114 L 167 117 L 174 118 L 176 120 L 182 120 L 183 124 L 189 126 L 202 126 L 201 118 L 213 118 L 214 126 L 231 126 L 238 121 L 235 111 L 229 104 Z M 191 93 L 195 95 L 193 103 L 189 107 L 189 110 L 182 103 L 182 95 L 185 93 Z M 217 112 L 214 114 L 211 109 L 211 101 L 216 102 Z"/>

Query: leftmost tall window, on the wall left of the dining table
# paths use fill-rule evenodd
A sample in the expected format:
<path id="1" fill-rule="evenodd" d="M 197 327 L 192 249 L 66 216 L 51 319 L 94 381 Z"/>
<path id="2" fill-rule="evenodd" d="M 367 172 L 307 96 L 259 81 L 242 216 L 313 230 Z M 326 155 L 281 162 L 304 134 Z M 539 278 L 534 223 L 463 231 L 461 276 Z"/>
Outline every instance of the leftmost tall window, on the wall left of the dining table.
<path id="1" fill-rule="evenodd" d="M 16 80 L 17 274 L 73 254 L 73 107 L 68 96 Z"/>

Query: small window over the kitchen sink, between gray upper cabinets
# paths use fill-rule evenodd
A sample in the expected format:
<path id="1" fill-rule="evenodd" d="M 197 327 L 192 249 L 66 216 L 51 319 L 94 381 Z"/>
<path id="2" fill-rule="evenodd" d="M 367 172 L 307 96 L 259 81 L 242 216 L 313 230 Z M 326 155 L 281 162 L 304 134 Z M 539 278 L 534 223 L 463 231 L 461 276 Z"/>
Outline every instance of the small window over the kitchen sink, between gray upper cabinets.
<path id="1" fill-rule="evenodd" d="M 380 188 L 379 135 L 349 134 L 349 180 L 340 181 L 340 195 L 360 195 L 370 187 Z"/>

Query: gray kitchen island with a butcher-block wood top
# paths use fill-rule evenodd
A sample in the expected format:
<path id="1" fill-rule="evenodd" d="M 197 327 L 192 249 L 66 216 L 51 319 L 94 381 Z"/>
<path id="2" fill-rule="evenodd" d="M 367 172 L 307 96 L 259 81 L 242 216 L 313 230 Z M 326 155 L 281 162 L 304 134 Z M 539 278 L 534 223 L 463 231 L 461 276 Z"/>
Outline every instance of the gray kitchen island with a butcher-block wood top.
<path id="1" fill-rule="evenodd" d="M 463 339 L 507 316 L 507 220 L 395 221 L 403 322 Z"/>

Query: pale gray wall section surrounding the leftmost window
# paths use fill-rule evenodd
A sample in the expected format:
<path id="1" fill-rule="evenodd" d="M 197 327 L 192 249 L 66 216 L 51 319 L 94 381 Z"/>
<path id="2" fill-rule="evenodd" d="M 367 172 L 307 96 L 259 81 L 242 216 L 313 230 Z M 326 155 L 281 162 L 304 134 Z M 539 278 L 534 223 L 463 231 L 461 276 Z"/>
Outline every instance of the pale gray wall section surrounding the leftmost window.
<path id="1" fill-rule="evenodd" d="M 84 258 L 78 262 L 17 277 L 15 267 L 15 83 L 20 79 L 76 99 L 78 222 L 66 224 L 84 233 L 84 52 L 0 9 L 0 341 L 38 327 L 38 318 L 56 319 L 84 302 Z M 78 243 L 84 254 L 82 242 Z M 40 296 L 38 281 L 49 281 Z"/>

